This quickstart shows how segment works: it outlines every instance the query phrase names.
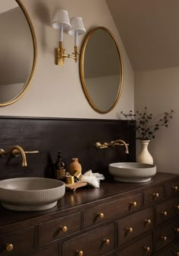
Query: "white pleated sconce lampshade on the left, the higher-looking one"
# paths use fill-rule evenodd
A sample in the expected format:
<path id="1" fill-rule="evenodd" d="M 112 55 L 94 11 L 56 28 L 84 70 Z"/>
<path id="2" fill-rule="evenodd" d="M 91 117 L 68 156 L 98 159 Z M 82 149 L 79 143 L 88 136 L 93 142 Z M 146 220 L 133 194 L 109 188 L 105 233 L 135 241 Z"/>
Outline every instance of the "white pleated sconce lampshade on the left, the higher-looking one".
<path id="1" fill-rule="evenodd" d="M 63 27 L 64 30 L 68 30 L 71 27 L 70 20 L 68 18 L 68 11 L 57 9 L 52 21 L 52 27 L 58 30 Z"/>

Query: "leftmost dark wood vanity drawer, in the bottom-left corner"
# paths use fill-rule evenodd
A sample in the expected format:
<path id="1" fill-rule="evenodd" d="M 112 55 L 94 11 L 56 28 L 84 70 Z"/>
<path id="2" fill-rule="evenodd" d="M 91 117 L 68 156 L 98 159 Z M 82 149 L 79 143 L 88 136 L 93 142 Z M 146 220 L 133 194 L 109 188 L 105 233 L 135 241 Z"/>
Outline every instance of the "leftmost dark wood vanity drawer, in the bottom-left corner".
<path id="1" fill-rule="evenodd" d="M 7 248 L 7 245 L 8 248 Z M 8 249 L 13 246 L 12 251 Z M 24 256 L 28 251 L 33 250 L 33 227 L 20 229 L 17 232 L 11 232 L 0 236 L 0 255 L 1 256 Z"/>

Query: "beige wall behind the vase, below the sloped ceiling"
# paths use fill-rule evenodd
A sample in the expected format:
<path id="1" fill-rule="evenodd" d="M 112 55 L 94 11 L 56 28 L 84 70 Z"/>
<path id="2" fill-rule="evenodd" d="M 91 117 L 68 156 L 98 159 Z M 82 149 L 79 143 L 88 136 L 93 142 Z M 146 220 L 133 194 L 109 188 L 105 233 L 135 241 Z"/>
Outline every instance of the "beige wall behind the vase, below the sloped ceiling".
<path id="1" fill-rule="evenodd" d="M 179 67 L 135 73 L 135 110 L 148 107 L 154 115 L 174 110 L 168 128 L 162 127 L 151 140 L 149 152 L 158 171 L 179 174 Z M 139 151 L 140 146 L 137 146 Z"/>

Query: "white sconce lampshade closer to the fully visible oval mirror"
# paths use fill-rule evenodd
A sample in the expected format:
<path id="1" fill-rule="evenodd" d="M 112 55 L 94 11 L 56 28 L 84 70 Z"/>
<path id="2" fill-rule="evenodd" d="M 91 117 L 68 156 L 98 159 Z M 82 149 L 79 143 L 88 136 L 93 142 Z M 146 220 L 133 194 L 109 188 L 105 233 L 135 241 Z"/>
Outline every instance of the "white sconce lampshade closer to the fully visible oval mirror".
<path id="1" fill-rule="evenodd" d="M 71 18 L 71 28 L 70 28 L 70 30 L 68 30 L 68 33 L 71 36 L 74 36 L 76 34 L 76 32 L 78 35 L 85 34 L 85 32 L 86 32 L 84 25 L 83 25 L 83 20 L 80 17 Z"/>

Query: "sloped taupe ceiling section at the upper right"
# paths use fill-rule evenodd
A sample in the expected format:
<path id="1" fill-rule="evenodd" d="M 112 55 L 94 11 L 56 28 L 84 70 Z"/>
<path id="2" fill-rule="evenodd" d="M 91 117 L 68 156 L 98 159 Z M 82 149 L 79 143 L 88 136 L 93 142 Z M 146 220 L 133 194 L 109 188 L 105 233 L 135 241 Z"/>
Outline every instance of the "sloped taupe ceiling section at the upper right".
<path id="1" fill-rule="evenodd" d="M 179 0 L 106 0 L 133 69 L 179 66 Z"/>

